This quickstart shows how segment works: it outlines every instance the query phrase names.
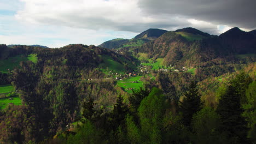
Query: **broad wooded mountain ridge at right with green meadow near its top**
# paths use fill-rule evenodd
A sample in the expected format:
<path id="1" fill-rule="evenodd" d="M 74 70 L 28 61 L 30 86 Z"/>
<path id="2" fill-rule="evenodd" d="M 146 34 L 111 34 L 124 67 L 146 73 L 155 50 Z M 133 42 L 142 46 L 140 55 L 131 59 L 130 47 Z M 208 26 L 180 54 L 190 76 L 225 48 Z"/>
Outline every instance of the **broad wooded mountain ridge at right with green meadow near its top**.
<path id="1" fill-rule="evenodd" d="M 237 54 L 256 53 L 253 34 L 232 28 L 219 37 L 195 28 L 183 28 L 162 34 L 158 39 L 143 44 L 136 52 L 148 58 L 164 58 L 165 65 L 195 66 L 225 59 Z"/>

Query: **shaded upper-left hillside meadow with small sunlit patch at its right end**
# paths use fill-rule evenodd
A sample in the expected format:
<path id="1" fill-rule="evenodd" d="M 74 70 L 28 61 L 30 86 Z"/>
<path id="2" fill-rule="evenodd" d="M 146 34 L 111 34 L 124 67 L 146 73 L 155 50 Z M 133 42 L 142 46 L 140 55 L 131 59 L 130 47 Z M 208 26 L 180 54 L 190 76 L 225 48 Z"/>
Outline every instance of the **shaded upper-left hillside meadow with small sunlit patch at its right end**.
<path id="1" fill-rule="evenodd" d="M 13 70 L 15 67 L 20 67 L 20 62 L 22 61 L 32 61 L 33 63 L 37 63 L 37 55 L 30 54 L 28 57 L 24 55 L 19 55 L 15 57 L 9 57 L 8 59 L 0 60 L 0 72 L 8 73 L 9 70 Z"/>

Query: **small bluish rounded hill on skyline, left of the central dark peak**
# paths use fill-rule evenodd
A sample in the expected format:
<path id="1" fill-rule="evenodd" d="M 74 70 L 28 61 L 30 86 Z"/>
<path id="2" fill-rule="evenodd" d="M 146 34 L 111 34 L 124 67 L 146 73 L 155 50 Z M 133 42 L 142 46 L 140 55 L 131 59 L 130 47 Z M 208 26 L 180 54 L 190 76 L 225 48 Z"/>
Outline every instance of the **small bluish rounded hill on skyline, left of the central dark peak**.
<path id="1" fill-rule="evenodd" d="M 125 44 L 129 41 L 129 39 L 113 39 L 108 40 L 98 45 L 98 47 L 105 47 L 107 49 L 117 49 L 120 45 Z"/>

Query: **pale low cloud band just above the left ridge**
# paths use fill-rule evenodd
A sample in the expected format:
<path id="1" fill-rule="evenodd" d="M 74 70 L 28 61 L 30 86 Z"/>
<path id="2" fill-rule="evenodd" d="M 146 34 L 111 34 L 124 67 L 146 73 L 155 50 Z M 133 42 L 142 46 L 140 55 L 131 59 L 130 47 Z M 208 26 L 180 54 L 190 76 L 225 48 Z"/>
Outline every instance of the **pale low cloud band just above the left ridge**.
<path id="1" fill-rule="evenodd" d="M 0 29 L 0 44 L 46 45 L 48 47 L 61 47 L 68 44 L 99 45 L 106 40 L 114 38 L 135 37 L 133 32 L 96 31 L 65 26 L 38 26 L 25 25 L 17 31 Z M 1 34 L 1 31 L 6 34 Z"/>

